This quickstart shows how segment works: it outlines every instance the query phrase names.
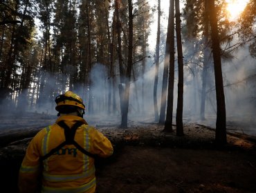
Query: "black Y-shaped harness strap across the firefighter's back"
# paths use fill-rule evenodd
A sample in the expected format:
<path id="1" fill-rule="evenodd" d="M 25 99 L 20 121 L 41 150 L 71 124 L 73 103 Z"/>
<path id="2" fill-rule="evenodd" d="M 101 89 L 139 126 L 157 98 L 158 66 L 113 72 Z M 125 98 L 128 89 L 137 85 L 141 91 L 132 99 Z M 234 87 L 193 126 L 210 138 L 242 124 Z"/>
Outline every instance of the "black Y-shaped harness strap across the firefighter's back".
<path id="1" fill-rule="evenodd" d="M 55 152 L 57 152 L 58 150 L 60 150 L 64 145 L 75 145 L 75 148 L 77 148 L 78 150 L 80 150 L 80 152 L 82 152 L 83 154 L 86 154 L 87 156 L 91 156 L 93 158 L 95 158 L 95 154 L 91 154 L 90 152 L 87 152 L 86 150 L 84 150 L 84 148 L 82 148 L 75 140 L 75 132 L 77 130 L 77 128 L 79 128 L 81 125 L 83 125 L 84 123 L 82 123 L 81 121 L 77 121 L 72 128 L 68 128 L 68 125 L 66 125 L 66 123 L 64 123 L 64 121 L 60 121 L 59 123 L 57 123 L 58 125 L 60 125 L 61 128 L 64 128 L 64 134 L 65 134 L 65 141 L 63 143 L 61 143 L 60 145 L 57 145 L 56 148 L 53 148 L 50 152 L 48 152 L 48 154 L 45 154 L 44 156 L 42 156 L 42 161 L 44 161 L 44 159 L 47 159 L 49 156 L 53 155 Z"/>

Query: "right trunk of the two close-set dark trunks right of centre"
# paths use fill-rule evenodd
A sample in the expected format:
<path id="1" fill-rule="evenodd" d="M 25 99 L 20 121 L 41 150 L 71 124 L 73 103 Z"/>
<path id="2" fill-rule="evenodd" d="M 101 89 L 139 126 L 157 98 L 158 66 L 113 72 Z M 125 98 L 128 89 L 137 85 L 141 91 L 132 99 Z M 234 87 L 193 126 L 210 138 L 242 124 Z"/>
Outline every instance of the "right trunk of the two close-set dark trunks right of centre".
<path id="1" fill-rule="evenodd" d="M 178 51 L 178 69 L 179 69 L 179 81 L 178 81 L 178 101 L 176 110 L 176 135 L 183 136 L 183 51 L 181 42 L 181 13 L 180 2 L 175 0 L 176 11 L 176 39 L 177 39 L 177 51 Z"/>

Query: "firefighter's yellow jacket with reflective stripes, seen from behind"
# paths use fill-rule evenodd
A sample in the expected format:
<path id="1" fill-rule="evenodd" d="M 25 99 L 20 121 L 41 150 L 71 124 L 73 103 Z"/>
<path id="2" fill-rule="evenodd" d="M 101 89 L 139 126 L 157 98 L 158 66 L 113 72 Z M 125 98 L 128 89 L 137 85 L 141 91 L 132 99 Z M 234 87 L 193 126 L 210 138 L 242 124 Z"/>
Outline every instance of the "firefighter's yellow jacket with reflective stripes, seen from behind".
<path id="1" fill-rule="evenodd" d="M 40 192 L 95 192 L 94 159 L 77 150 L 74 145 L 65 145 L 44 161 L 41 160 L 42 156 L 65 141 L 64 129 L 57 125 L 59 121 L 64 121 L 69 128 L 76 121 L 84 123 L 77 128 L 74 139 L 87 152 L 100 157 L 113 153 L 107 137 L 89 126 L 84 119 L 60 116 L 55 124 L 39 131 L 30 141 L 19 170 L 21 193 L 38 191 L 38 182 Z"/>

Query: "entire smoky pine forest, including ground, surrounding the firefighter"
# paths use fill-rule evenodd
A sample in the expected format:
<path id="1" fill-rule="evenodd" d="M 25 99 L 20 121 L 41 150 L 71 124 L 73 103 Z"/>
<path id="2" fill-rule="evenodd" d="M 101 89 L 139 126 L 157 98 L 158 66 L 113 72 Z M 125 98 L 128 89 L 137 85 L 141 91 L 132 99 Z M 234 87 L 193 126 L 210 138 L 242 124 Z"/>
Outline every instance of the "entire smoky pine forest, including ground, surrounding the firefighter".
<path id="1" fill-rule="evenodd" d="M 256 0 L 0 10 L 1 187 L 17 192 L 29 141 L 71 90 L 115 149 L 96 161 L 98 192 L 256 191 Z"/>

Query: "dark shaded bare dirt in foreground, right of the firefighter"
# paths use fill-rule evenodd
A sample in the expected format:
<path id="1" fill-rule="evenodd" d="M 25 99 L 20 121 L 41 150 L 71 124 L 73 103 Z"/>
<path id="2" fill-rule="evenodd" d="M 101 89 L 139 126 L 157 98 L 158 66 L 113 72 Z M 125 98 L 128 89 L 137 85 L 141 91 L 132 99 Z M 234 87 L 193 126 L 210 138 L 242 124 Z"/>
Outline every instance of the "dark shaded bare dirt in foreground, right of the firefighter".
<path id="1" fill-rule="evenodd" d="M 124 146 L 97 168 L 98 192 L 256 192 L 255 157 L 244 152 Z"/>

